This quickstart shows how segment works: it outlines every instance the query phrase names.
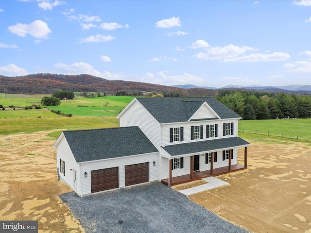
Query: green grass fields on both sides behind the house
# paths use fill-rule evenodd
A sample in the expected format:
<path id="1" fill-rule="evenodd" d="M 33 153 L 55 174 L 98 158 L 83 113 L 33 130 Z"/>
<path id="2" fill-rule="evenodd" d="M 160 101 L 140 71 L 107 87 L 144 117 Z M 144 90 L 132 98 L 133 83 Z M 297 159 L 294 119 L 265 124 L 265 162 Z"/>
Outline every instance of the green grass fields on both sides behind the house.
<path id="1" fill-rule="evenodd" d="M 0 104 L 4 107 L 30 106 L 32 103 L 40 102 L 44 96 L 46 95 L 6 94 L 6 99 L 3 99 L 3 94 L 0 93 Z M 80 130 L 118 127 L 119 120 L 116 116 L 134 98 L 128 96 L 78 97 L 74 100 L 62 100 L 59 106 L 48 107 L 64 114 L 72 114 L 72 117 L 57 115 L 47 109 L 1 110 L 0 134 L 33 133 L 53 129 Z M 106 101 L 109 104 L 104 107 Z M 84 107 L 78 107 L 79 105 Z M 311 119 L 240 120 L 239 136 L 253 141 L 310 143 L 310 126 Z M 50 136 L 57 137 L 60 132 L 61 130 Z"/>

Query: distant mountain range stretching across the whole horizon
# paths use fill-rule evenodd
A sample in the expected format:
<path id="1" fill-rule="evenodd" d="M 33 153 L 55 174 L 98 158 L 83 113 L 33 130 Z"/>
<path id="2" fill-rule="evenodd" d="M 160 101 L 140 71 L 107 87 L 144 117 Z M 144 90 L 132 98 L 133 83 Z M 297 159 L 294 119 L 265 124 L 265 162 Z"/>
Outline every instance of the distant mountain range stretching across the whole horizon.
<path id="1" fill-rule="evenodd" d="M 118 91 L 127 93 L 179 92 L 183 96 L 216 96 L 218 90 L 253 90 L 265 92 L 284 92 L 287 94 L 309 94 L 311 85 L 289 86 L 239 86 L 228 85 L 221 88 L 196 85 L 158 85 L 122 80 L 106 80 L 88 74 L 63 75 L 63 74 L 29 74 L 25 76 L 7 77 L 0 75 L 0 93 L 18 94 L 53 94 L 56 91 L 68 90 L 73 92 L 100 92 L 115 94 Z M 175 93 L 176 94 L 176 93 Z"/>

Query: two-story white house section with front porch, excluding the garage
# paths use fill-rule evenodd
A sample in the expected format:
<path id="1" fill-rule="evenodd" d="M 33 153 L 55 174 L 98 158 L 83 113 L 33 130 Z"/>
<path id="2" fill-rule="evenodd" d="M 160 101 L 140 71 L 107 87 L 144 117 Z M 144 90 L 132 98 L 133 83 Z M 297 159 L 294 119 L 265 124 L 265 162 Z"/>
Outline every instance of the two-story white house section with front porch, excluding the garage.
<path id="1" fill-rule="evenodd" d="M 238 137 L 242 117 L 212 97 L 137 98 L 117 118 L 120 127 L 138 126 L 159 150 L 162 183 L 247 168 L 250 144 Z M 238 148 L 244 148 L 243 166 Z"/>

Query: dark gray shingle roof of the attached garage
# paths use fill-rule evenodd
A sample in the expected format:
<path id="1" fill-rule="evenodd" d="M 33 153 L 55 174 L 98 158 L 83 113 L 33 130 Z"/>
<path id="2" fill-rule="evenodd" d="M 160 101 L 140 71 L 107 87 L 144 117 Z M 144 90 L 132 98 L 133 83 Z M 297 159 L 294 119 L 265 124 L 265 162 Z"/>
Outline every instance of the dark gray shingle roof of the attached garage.
<path id="1" fill-rule="evenodd" d="M 138 126 L 63 133 L 77 163 L 158 151 Z"/>

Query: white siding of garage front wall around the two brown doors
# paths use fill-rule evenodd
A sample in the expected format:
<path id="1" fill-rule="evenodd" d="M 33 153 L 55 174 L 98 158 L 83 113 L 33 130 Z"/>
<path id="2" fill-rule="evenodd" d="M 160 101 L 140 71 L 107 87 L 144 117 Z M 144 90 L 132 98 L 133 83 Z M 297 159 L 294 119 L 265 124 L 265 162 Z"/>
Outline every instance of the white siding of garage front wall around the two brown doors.
<path id="1" fill-rule="evenodd" d="M 153 162 L 155 161 L 155 166 L 153 166 Z M 82 165 L 81 174 L 83 175 L 85 172 L 88 176 L 85 178 L 83 175 L 82 178 L 82 192 L 80 195 L 88 195 L 91 194 L 91 171 L 99 170 L 110 167 L 119 167 L 119 188 L 125 186 L 125 166 L 132 164 L 140 164 L 140 163 L 149 163 L 149 182 L 159 180 L 158 178 L 158 153 L 151 153 L 145 155 L 134 155 L 113 159 L 106 159 L 101 161 L 94 161 L 89 163 L 84 163 Z"/>

